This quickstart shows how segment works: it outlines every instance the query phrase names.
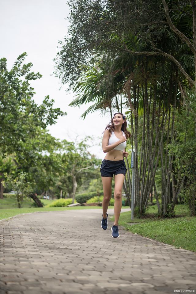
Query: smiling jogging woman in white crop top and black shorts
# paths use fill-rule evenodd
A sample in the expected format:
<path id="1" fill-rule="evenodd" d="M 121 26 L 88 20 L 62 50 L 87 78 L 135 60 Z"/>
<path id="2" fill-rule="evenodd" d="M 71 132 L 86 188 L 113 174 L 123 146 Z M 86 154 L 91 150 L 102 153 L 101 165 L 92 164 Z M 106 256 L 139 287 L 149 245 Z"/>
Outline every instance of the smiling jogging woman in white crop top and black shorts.
<path id="1" fill-rule="evenodd" d="M 111 123 L 111 125 L 110 125 Z M 130 138 L 131 134 L 127 131 L 126 118 L 123 113 L 117 112 L 114 114 L 110 123 L 104 131 L 102 140 L 102 148 L 104 153 L 107 153 L 101 163 L 100 172 L 104 190 L 104 199 L 102 202 L 103 214 L 101 220 L 101 227 L 106 230 L 108 227 L 107 208 L 111 199 L 111 182 L 114 174 L 115 189 L 114 189 L 114 224 L 111 227 L 112 237 L 118 238 L 118 220 L 122 208 L 122 189 L 126 174 L 126 165 L 123 157 L 129 154 L 125 152 L 126 140 Z"/>

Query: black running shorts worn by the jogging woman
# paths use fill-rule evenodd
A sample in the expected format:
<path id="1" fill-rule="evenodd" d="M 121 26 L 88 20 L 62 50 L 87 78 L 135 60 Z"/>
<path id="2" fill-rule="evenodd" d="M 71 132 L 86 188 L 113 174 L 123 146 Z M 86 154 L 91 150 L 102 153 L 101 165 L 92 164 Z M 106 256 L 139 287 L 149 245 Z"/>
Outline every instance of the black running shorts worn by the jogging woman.
<path id="1" fill-rule="evenodd" d="M 104 159 L 101 163 L 100 172 L 102 177 L 113 177 L 113 174 L 126 174 L 126 165 L 124 159 L 122 160 L 107 160 Z"/>

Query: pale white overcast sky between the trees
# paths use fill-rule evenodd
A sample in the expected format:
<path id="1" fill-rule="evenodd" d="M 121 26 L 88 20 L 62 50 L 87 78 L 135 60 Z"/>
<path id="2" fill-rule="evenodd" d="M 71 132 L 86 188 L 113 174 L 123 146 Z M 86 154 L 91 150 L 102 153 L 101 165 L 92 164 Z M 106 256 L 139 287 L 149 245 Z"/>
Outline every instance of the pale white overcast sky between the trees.
<path id="1" fill-rule="evenodd" d="M 55 100 L 54 107 L 67 113 L 59 117 L 55 125 L 48 127 L 51 135 L 68 141 L 77 138 L 77 142 L 85 136 L 93 136 L 94 140 L 88 142 L 91 146 L 89 151 L 103 160 L 106 154 L 102 150 L 102 132 L 111 119 L 109 111 L 104 116 L 98 111 L 89 113 L 83 120 L 82 113 L 92 104 L 81 105 L 80 108 L 68 106 L 76 93 L 66 92 L 66 85 L 62 86 L 61 80 L 53 74 L 58 40 L 63 40 L 69 27 L 66 1 L 6 0 L 1 1 L 0 10 L 0 58 L 7 59 L 10 70 L 17 57 L 26 52 L 25 63 L 31 62 L 32 71 L 42 74 L 42 78 L 31 82 L 36 92 L 36 103 L 41 104 L 49 95 Z"/>

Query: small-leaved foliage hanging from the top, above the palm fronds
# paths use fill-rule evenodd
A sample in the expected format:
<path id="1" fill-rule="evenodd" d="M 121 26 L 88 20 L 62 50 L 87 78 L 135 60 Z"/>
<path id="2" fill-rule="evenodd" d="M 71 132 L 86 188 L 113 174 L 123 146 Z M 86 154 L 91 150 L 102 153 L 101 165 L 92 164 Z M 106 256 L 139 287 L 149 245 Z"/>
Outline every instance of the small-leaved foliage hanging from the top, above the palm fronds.
<path id="1" fill-rule="evenodd" d="M 155 29 L 155 25 L 146 33 L 146 26 L 143 24 L 163 20 L 161 5 L 155 0 L 70 0 L 68 4 L 71 10 L 69 35 L 59 41 L 55 74 L 70 85 L 74 85 L 89 68 L 89 60 L 94 54 L 110 52 L 115 58 L 119 48 L 125 50 L 126 34 L 132 31 L 146 39 L 153 34 L 151 30 Z"/>

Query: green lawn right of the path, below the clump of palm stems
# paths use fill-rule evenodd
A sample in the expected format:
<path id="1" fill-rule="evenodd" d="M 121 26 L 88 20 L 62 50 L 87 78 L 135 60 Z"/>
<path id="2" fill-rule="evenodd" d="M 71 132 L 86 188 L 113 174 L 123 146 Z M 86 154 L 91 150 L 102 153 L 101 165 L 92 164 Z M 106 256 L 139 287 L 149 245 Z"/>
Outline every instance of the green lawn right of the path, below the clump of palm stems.
<path id="1" fill-rule="evenodd" d="M 157 207 L 154 205 L 145 217 L 133 220 L 131 212 L 122 212 L 118 224 L 134 234 L 196 252 L 196 217 L 189 216 L 183 204 L 176 204 L 174 211 L 176 217 L 163 219 L 155 215 Z M 114 216 L 110 220 L 114 220 Z"/>

